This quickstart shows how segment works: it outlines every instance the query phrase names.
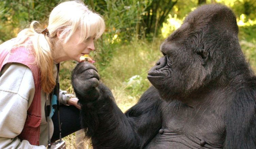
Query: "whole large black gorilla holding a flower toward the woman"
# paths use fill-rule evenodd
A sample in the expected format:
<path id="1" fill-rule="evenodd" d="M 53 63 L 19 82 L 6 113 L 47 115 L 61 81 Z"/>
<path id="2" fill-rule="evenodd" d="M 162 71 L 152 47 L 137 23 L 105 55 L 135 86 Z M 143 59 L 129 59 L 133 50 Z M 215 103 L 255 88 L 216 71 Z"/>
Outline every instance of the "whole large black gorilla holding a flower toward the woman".
<path id="1" fill-rule="evenodd" d="M 160 46 L 153 85 L 123 113 L 97 69 L 79 63 L 72 85 L 95 149 L 256 148 L 256 77 L 231 9 L 203 5 Z"/>

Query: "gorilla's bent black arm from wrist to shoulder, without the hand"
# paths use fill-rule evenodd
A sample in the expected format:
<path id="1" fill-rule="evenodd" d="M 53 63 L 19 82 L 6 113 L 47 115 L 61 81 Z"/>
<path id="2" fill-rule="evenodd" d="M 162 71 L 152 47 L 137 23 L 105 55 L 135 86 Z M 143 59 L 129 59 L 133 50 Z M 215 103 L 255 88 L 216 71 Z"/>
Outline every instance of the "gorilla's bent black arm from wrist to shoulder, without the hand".
<path id="1" fill-rule="evenodd" d="M 160 101 L 150 88 L 140 102 L 125 114 L 117 107 L 108 88 L 99 86 L 100 98 L 91 108 L 82 107 L 82 121 L 94 148 L 142 148 L 161 127 Z M 83 106 L 83 104 L 82 104 Z"/>

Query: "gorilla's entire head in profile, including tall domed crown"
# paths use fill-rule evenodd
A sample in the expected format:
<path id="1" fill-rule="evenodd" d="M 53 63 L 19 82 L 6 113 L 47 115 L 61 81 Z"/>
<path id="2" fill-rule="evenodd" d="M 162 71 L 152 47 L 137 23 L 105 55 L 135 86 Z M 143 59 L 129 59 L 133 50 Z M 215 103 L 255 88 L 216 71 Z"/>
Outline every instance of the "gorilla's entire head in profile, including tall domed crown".
<path id="1" fill-rule="evenodd" d="M 236 17 L 225 7 L 195 9 L 162 43 L 163 57 L 148 80 L 165 100 L 227 83 L 244 63 L 237 35 Z"/>

